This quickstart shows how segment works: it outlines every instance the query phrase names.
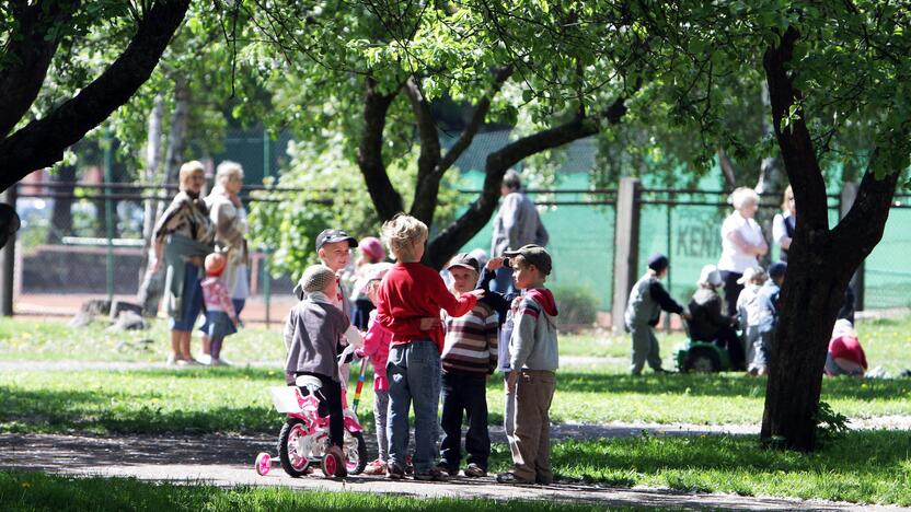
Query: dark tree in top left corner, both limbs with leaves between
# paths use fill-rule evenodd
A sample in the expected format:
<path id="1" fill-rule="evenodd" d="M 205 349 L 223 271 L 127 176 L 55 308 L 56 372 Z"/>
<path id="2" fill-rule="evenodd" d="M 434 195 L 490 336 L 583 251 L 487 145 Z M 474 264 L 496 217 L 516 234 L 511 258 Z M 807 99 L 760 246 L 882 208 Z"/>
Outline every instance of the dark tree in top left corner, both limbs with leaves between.
<path id="1" fill-rule="evenodd" d="M 81 2 L 14 0 L 0 7 L 0 189 L 58 162 L 64 151 L 104 121 L 149 78 L 189 0 Z M 60 48 L 72 49 L 93 28 L 114 25 L 131 36 L 94 80 L 69 98 L 56 98 L 36 118 L 28 112 Z M 22 126 L 24 124 L 24 126 Z M 18 126 L 21 126 L 16 129 Z"/>

